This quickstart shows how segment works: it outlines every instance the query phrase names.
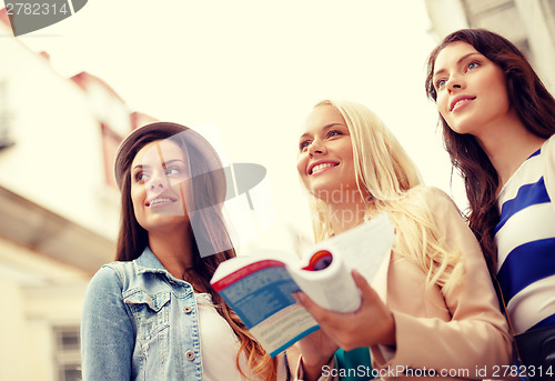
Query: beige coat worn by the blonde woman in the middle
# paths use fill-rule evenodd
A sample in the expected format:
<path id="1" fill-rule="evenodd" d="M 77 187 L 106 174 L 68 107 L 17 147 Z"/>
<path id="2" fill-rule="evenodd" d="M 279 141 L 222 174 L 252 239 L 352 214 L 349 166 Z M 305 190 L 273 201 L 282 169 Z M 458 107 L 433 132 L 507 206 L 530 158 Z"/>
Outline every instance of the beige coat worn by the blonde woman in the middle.
<path id="1" fill-rule="evenodd" d="M 509 379 L 511 335 L 480 244 L 443 191 L 428 187 L 415 197 L 434 212 L 447 247 L 462 253 L 466 277 L 453 292 L 426 292 L 420 265 L 392 251 L 371 284 L 393 311 L 396 347 L 371 347 L 374 372 L 383 380 Z M 302 380 L 296 367 L 293 374 Z"/>

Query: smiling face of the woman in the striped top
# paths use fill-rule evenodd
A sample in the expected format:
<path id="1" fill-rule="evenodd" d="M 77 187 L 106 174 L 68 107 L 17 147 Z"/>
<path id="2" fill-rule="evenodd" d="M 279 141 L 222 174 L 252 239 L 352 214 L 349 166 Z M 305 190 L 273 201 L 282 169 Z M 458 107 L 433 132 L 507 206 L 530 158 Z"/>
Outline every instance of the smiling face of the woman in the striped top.
<path id="1" fill-rule="evenodd" d="M 477 138 L 514 118 L 503 70 L 473 46 L 457 41 L 435 60 L 437 109 L 450 128 Z"/>

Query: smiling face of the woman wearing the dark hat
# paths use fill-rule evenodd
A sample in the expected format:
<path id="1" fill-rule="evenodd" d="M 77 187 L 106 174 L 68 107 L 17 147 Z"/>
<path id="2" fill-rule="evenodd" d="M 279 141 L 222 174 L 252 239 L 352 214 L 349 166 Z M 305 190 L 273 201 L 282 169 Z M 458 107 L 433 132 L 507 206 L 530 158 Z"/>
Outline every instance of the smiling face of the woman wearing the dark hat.
<path id="1" fill-rule="evenodd" d="M 131 163 L 131 201 L 139 224 L 147 231 L 186 224 L 189 166 L 171 140 L 144 146 Z"/>

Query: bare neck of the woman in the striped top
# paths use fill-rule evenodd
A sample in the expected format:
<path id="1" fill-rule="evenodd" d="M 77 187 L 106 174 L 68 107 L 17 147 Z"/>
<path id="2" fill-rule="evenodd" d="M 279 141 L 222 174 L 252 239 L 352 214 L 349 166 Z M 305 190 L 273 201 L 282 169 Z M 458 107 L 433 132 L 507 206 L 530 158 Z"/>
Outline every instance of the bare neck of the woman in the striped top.
<path id="1" fill-rule="evenodd" d="M 518 167 L 542 147 L 545 139 L 526 130 L 519 120 L 507 121 L 491 131 L 476 138 L 497 172 L 501 189 Z"/>

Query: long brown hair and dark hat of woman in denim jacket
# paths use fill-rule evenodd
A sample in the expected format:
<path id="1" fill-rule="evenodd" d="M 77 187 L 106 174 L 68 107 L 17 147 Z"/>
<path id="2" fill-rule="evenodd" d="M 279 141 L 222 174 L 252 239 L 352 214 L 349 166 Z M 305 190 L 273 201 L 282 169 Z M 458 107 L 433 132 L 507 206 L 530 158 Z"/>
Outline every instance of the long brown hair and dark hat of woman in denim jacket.
<path id="1" fill-rule="evenodd" d="M 244 353 L 250 369 L 264 380 L 275 380 L 276 361 L 270 358 L 236 313 L 210 284 L 218 265 L 235 257 L 235 251 L 225 229 L 221 209 L 226 192 L 222 162 L 212 146 L 195 131 L 175 123 L 157 122 L 134 131 L 120 147 L 115 159 L 115 177 L 121 190 L 122 209 L 115 259 L 132 261 L 139 258 L 148 245 L 148 232 L 139 224 L 133 211 L 130 168 L 135 154 L 145 144 L 163 139 L 172 140 L 181 147 L 189 159 L 190 173 L 193 178 L 192 181 L 188 181 L 190 186 L 188 212 L 190 210 L 190 213 L 195 214 L 196 222 L 194 234 L 190 231 L 185 238 L 194 241 L 192 277 L 212 295 L 215 309 L 235 332 L 240 341 L 236 365 L 241 373 L 245 374 L 240 365 L 241 354 Z M 210 205 L 216 207 L 205 208 Z M 193 220 L 191 215 L 190 220 Z M 215 254 L 201 255 L 200 248 L 205 249 L 206 245 L 211 245 Z"/>

